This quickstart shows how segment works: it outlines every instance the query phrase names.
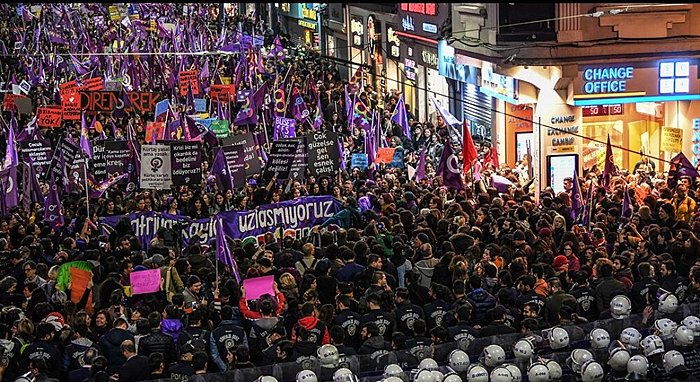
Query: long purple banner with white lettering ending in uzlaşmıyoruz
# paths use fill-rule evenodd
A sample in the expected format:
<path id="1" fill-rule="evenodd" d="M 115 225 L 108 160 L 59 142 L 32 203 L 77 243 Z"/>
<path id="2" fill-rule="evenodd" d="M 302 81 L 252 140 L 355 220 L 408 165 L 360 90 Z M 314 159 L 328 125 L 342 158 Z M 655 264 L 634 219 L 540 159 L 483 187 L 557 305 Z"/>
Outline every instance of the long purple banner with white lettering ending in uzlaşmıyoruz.
<path id="1" fill-rule="evenodd" d="M 145 212 L 130 215 L 105 216 L 100 218 L 106 234 L 114 230 L 117 223 L 124 218 L 131 221 L 131 228 L 141 245 L 148 249 L 151 239 L 161 227 L 182 229 L 183 245 L 188 245 L 190 238 L 198 232 L 200 244 L 209 244 L 214 238 L 217 217 L 223 221 L 224 232 L 232 239 L 254 237 L 258 241 L 268 232 L 284 227 L 285 236 L 305 237 L 311 229 L 323 224 L 343 209 L 343 204 L 332 196 L 307 196 L 282 203 L 266 204 L 252 211 L 227 211 L 209 219 L 191 219 L 186 216 L 169 215 L 159 212 Z"/>

